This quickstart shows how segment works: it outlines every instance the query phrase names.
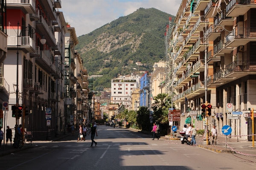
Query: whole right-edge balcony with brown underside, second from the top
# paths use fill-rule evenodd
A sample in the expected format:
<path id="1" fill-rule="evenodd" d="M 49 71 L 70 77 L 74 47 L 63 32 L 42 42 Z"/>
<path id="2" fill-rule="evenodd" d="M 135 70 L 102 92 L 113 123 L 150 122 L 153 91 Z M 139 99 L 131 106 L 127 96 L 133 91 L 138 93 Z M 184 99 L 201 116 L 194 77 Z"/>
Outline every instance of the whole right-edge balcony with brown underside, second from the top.
<path id="1" fill-rule="evenodd" d="M 229 36 L 234 35 L 233 42 L 229 40 Z M 250 41 L 256 41 L 256 28 L 234 28 L 232 32 L 226 35 L 226 47 L 238 47 L 246 45 Z"/>

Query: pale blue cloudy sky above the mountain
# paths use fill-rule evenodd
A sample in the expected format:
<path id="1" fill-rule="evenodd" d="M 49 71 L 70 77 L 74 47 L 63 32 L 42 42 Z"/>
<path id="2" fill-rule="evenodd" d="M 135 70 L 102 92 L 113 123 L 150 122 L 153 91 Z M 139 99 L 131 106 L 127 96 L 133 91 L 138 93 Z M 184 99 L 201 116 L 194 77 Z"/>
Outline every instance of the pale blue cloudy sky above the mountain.
<path id="1" fill-rule="evenodd" d="M 61 0 L 66 23 L 75 27 L 76 36 L 88 34 L 138 8 L 156 8 L 176 16 L 182 0 Z M 168 18 L 166 18 L 168 20 Z"/>

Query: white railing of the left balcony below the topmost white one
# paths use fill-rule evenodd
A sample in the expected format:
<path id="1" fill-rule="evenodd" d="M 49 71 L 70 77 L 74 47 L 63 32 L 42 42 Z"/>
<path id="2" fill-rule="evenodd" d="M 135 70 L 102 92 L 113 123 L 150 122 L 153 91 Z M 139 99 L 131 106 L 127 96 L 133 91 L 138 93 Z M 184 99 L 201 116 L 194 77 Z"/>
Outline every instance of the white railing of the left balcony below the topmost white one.
<path id="1" fill-rule="evenodd" d="M 17 46 L 17 36 L 9 36 L 7 38 L 7 45 Z M 21 47 L 30 46 L 35 49 L 35 41 L 31 37 L 19 37 L 19 45 Z"/>

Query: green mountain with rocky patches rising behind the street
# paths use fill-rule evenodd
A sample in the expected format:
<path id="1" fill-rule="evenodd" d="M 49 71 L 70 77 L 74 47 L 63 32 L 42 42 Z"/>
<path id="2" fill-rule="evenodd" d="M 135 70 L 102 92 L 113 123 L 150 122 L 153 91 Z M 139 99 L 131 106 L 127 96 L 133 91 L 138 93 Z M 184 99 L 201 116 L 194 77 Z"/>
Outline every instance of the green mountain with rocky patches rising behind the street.
<path id="1" fill-rule="evenodd" d="M 111 79 L 120 74 L 150 71 L 154 62 L 164 57 L 164 32 L 169 17 L 175 18 L 155 8 L 139 8 L 78 37 L 76 50 L 88 74 L 103 75 L 94 80 L 94 89 L 111 87 Z M 143 65 L 137 66 L 135 62 Z"/>

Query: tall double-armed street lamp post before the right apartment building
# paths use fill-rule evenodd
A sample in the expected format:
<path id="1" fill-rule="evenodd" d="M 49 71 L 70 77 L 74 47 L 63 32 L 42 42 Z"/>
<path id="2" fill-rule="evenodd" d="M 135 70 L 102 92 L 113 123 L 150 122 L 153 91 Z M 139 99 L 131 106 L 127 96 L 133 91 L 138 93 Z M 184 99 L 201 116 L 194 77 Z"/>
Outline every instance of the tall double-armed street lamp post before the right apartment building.
<path id="1" fill-rule="evenodd" d="M 205 23 L 205 28 L 207 28 L 207 21 L 204 21 Z M 205 51 L 204 51 L 204 63 L 205 63 L 205 66 L 204 66 L 204 89 L 205 89 L 205 102 L 207 103 L 207 45 L 209 45 L 209 43 L 207 43 L 207 37 L 208 37 L 208 33 L 207 31 L 204 31 L 204 29 L 200 26 L 200 25 L 197 25 L 197 24 L 193 24 L 193 25 L 190 25 L 186 30 L 188 30 L 191 26 L 199 26 L 201 28 L 201 30 L 203 31 L 203 34 L 204 34 L 204 45 L 205 45 Z M 222 26 L 220 24 L 217 24 L 216 26 Z M 186 31 L 185 30 L 185 31 Z M 224 26 L 222 26 L 222 30 L 220 31 L 228 31 L 227 29 L 224 28 Z M 183 31 L 183 32 L 185 32 Z M 228 32 L 232 32 L 232 31 L 228 31 Z M 229 36 L 229 40 L 230 41 L 234 41 L 235 37 L 233 34 L 230 34 Z M 184 40 L 184 37 L 182 35 L 182 32 L 180 32 L 180 35 L 178 37 L 178 40 L 179 42 L 183 42 Z M 190 65 L 189 66 L 189 69 L 191 68 Z M 187 68 L 188 68 L 187 66 Z M 207 131 L 208 131 L 208 119 L 207 119 Z M 208 140 L 209 140 L 209 136 L 208 136 L 208 133 L 207 133 L 207 145 L 208 145 Z"/>

